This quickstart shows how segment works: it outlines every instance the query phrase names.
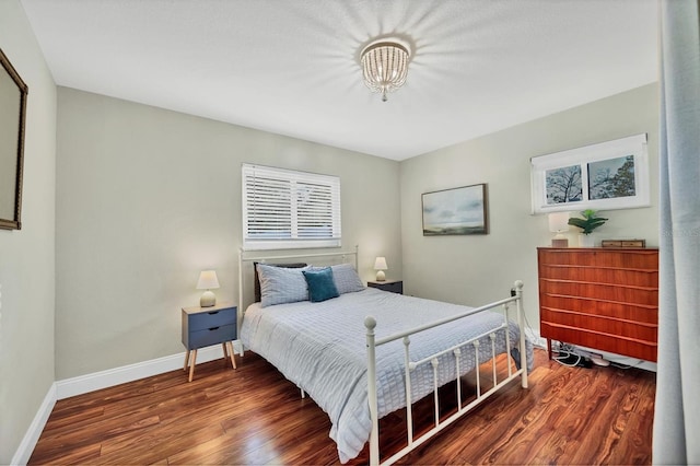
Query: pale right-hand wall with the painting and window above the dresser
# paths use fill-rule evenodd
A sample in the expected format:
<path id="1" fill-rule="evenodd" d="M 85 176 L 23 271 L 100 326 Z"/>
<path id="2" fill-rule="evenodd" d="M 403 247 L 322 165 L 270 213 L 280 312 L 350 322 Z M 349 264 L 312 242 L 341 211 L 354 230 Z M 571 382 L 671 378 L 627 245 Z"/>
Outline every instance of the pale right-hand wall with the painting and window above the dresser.
<path id="1" fill-rule="evenodd" d="M 658 246 L 658 86 L 650 84 L 401 162 L 401 241 L 409 294 L 479 305 L 525 282 L 525 307 L 539 333 L 538 246 L 551 240 L 546 215 L 530 214 L 529 159 L 649 133 L 649 208 L 602 212 L 599 238 L 645 238 Z M 423 236 L 421 194 L 487 183 L 490 233 Z M 572 228 L 573 230 L 573 228 Z M 571 245 L 576 238 L 571 234 Z"/>

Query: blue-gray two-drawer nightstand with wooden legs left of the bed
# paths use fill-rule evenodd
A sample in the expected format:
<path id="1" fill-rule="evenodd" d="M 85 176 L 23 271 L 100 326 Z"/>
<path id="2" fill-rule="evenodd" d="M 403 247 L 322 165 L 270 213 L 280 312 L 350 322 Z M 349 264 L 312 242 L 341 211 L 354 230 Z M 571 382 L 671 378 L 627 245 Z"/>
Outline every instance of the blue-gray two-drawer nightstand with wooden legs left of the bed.
<path id="1" fill-rule="evenodd" d="M 237 338 L 237 308 L 230 303 L 221 303 L 211 307 L 183 307 L 183 345 L 185 371 L 189 368 L 189 382 L 195 375 L 197 349 L 221 343 L 224 359 L 231 357 L 231 364 L 236 369 L 233 357 L 233 341 Z M 191 361 L 190 361 L 191 359 Z"/>

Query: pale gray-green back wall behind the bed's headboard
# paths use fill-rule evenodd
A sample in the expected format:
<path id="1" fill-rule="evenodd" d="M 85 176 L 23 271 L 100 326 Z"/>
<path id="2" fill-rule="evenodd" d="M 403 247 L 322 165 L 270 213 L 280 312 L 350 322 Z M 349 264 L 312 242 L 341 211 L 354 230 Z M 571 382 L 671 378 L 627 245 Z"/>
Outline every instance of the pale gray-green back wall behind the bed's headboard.
<path id="1" fill-rule="evenodd" d="M 343 249 L 400 277 L 398 162 L 58 89 L 57 380 L 184 351 L 199 271 L 237 302 L 241 164 L 338 175 Z"/>

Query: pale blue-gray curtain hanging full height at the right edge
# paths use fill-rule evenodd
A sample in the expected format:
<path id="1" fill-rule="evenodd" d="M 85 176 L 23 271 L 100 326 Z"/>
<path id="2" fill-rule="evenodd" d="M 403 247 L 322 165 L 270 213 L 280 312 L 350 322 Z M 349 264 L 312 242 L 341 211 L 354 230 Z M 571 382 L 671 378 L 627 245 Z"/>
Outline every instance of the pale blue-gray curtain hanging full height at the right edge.
<path id="1" fill-rule="evenodd" d="M 662 0 L 653 463 L 700 464 L 700 0 Z"/>

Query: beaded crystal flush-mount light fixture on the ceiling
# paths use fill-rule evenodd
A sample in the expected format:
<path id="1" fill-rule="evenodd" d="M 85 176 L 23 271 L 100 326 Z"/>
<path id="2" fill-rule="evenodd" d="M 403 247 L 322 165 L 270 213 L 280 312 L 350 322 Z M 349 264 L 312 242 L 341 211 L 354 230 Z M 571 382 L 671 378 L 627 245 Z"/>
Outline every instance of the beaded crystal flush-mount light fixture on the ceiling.
<path id="1" fill-rule="evenodd" d="M 386 94 L 406 82 L 409 58 L 409 48 L 394 39 L 368 45 L 360 54 L 364 83 L 372 92 L 381 93 L 382 101 L 386 102 Z"/>

